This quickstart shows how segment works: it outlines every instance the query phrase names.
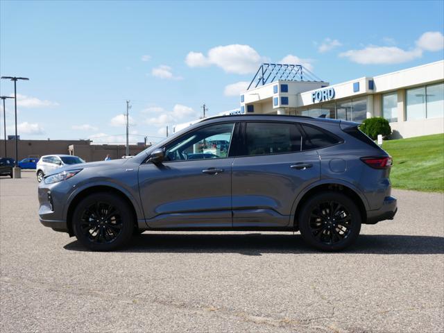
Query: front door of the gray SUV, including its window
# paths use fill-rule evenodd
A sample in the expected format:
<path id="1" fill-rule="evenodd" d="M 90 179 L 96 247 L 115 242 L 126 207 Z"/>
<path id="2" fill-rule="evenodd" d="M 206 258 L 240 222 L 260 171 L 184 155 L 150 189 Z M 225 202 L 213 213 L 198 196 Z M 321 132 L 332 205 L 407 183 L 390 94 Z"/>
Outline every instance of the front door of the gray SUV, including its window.
<path id="1" fill-rule="evenodd" d="M 167 144 L 162 164 L 139 167 L 150 228 L 232 227 L 233 130 L 234 123 L 203 126 Z"/>

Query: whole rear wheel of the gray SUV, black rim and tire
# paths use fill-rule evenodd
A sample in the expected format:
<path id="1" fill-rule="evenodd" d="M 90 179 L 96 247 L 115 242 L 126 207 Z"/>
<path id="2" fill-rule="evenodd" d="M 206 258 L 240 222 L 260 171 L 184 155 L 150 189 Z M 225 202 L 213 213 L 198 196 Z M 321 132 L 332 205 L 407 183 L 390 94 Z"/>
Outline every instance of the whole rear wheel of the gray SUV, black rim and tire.
<path id="1" fill-rule="evenodd" d="M 361 213 L 348 196 L 328 191 L 315 194 L 305 202 L 298 222 L 307 244 L 323 251 L 339 251 L 357 239 Z"/>

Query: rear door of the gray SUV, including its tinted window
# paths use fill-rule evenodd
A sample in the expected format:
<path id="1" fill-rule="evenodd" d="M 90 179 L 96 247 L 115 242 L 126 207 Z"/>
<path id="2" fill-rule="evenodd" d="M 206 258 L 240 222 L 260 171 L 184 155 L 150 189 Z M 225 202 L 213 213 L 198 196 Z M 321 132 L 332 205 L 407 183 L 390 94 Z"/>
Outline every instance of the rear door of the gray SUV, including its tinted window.
<path id="1" fill-rule="evenodd" d="M 234 227 L 284 227 L 299 192 L 321 178 L 316 150 L 302 151 L 298 123 L 247 121 L 232 166 Z"/>

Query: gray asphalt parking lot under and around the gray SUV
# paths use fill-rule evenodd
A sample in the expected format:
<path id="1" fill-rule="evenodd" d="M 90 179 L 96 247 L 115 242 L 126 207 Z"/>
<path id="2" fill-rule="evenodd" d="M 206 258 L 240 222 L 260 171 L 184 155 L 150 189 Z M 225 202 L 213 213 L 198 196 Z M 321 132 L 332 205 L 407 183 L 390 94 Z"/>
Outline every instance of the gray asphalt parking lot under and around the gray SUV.
<path id="1" fill-rule="evenodd" d="M 394 190 L 343 253 L 299 234 L 145 232 L 85 251 L 0 178 L 1 332 L 444 332 L 444 196 Z"/>

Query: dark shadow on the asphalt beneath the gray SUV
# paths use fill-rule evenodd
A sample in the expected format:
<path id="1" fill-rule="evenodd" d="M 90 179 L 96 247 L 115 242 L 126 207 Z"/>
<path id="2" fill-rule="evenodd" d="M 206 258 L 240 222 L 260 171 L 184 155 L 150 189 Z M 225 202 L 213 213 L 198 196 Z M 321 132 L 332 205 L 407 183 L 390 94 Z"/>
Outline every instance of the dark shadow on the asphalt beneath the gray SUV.
<path id="1" fill-rule="evenodd" d="M 66 250 L 87 251 L 78 241 Z M 307 246 L 300 234 L 164 234 L 146 232 L 133 237 L 119 252 L 130 253 L 319 253 Z M 356 243 L 341 253 L 377 255 L 444 254 L 444 237 L 388 234 L 361 234 Z"/>

